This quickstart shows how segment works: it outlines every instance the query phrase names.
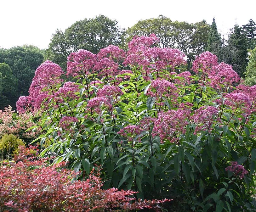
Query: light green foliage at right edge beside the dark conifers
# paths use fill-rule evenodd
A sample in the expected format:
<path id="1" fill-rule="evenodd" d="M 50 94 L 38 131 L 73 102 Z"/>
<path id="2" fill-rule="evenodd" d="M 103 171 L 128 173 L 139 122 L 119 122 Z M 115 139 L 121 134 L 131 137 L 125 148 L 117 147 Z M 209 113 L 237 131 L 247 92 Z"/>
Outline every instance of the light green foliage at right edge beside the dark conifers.
<path id="1" fill-rule="evenodd" d="M 256 48 L 249 53 L 249 63 L 245 72 L 245 83 L 252 86 L 256 85 Z"/>

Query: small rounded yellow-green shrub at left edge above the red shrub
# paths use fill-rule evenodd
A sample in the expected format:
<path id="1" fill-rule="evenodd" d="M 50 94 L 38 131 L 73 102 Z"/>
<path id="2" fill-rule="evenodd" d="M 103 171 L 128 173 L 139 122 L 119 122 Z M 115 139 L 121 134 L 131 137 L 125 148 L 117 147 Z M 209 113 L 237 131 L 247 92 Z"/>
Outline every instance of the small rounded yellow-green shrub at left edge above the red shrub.
<path id="1" fill-rule="evenodd" d="M 13 134 L 6 134 L 0 139 L 1 160 L 10 159 L 11 154 L 14 155 L 19 146 L 25 146 L 23 141 Z"/>

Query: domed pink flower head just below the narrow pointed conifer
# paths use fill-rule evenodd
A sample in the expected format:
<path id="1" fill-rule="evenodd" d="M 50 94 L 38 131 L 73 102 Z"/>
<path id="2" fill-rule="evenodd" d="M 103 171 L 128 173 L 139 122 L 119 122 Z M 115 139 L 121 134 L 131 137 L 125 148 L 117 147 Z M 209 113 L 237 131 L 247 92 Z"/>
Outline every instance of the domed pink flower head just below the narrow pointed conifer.
<path id="1" fill-rule="evenodd" d="M 199 69 L 203 73 L 208 74 L 213 66 L 218 65 L 218 58 L 215 54 L 210 52 L 203 52 L 202 54 L 196 56 L 196 59 L 193 62 L 192 70 L 197 74 Z"/>

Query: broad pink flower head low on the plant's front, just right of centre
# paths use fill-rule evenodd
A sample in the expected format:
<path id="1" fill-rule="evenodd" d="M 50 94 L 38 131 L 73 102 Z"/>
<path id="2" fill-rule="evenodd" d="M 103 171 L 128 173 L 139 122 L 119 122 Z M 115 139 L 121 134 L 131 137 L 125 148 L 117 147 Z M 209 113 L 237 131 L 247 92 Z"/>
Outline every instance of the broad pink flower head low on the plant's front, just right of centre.
<path id="1" fill-rule="evenodd" d="M 155 120 L 152 136 L 159 136 L 161 142 L 165 140 L 170 142 L 179 142 L 179 134 L 186 132 L 188 122 L 186 119 L 190 110 L 178 109 L 159 112 Z"/>

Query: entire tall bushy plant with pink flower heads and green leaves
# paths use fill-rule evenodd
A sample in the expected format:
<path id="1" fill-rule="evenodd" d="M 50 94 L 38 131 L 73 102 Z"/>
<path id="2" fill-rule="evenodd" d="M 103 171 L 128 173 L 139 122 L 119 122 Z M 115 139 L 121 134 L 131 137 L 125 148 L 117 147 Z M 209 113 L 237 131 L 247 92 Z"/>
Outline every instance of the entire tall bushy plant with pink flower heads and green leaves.
<path id="1" fill-rule="evenodd" d="M 40 87 L 36 73 L 35 92 L 17 108 L 33 113 L 40 103 L 43 133 L 34 142 L 42 148 L 51 142 L 41 155 L 55 152 L 54 164 L 69 161 L 87 175 L 100 165 L 105 188 L 133 189 L 142 199 L 171 197 L 169 210 L 175 202 L 186 203 L 178 211 L 253 208 L 256 87 L 236 87 L 237 73 L 209 52 L 193 62 L 196 75 L 179 73 L 184 55 L 156 42 L 154 35 L 136 36 L 126 55 L 113 46 L 97 58 L 72 53 L 73 92 L 64 92 L 56 64 L 39 67 L 37 73 L 55 67 L 54 84 Z M 131 70 L 122 72 L 122 60 Z M 241 173 L 226 171 L 230 162 L 248 173 L 234 177 Z"/>

